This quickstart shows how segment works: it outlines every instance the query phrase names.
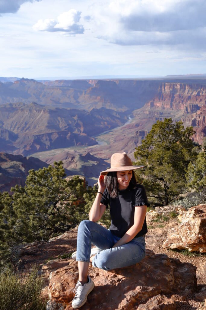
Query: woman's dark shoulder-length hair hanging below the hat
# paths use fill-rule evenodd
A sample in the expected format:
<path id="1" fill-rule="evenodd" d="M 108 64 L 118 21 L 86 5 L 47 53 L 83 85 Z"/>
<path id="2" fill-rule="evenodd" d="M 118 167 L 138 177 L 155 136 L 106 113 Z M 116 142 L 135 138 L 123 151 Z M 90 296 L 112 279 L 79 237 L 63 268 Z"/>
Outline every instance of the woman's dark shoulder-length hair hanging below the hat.
<path id="1" fill-rule="evenodd" d="M 116 172 L 108 172 L 107 175 L 104 177 L 104 184 L 108 189 L 111 198 L 116 198 L 119 195 L 119 185 L 117 182 L 117 175 Z M 132 170 L 132 178 L 129 182 L 128 188 L 132 189 L 136 186 L 137 181 L 135 178 L 134 171 Z"/>

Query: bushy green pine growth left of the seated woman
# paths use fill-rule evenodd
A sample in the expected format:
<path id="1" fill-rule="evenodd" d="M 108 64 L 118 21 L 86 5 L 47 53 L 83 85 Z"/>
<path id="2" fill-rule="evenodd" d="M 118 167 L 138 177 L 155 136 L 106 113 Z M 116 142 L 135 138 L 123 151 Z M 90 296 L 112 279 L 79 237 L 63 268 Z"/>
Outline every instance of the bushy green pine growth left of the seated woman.
<path id="1" fill-rule="evenodd" d="M 86 184 L 79 176 L 65 179 L 62 162 L 30 170 L 24 187 L 0 193 L 0 259 L 8 259 L 12 246 L 51 237 L 86 219 Z"/>

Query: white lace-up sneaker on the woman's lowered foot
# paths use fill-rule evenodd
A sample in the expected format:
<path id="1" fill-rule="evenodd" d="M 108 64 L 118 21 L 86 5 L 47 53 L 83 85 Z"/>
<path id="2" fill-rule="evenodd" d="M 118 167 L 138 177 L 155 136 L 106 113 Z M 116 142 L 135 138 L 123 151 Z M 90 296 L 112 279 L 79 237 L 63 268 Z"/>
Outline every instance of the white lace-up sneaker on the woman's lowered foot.
<path id="1" fill-rule="evenodd" d="M 81 282 L 79 282 L 79 280 L 77 281 L 77 284 L 74 288 L 74 299 L 72 300 L 72 307 L 74 309 L 80 308 L 83 306 L 83 304 L 86 303 L 87 300 L 87 295 L 93 290 L 93 288 L 95 287 L 94 282 L 92 281 L 92 279 L 88 277 L 89 282 L 85 283 L 83 286 L 81 284 Z"/>

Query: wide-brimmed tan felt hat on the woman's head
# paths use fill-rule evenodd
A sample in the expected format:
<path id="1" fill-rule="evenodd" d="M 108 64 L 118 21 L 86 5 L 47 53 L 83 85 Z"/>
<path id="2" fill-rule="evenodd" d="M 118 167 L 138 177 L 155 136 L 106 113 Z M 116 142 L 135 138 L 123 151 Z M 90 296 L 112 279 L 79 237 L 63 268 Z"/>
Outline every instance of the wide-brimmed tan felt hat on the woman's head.
<path id="1" fill-rule="evenodd" d="M 111 155 L 111 168 L 101 171 L 101 175 L 107 175 L 108 172 L 126 171 L 143 168 L 144 166 L 133 166 L 131 159 L 124 153 L 114 153 Z"/>

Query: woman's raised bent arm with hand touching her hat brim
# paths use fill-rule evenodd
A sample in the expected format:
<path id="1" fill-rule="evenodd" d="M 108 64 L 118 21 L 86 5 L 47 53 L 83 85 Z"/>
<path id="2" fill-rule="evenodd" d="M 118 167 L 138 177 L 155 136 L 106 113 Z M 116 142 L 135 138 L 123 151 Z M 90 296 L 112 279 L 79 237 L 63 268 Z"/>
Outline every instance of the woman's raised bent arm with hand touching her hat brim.
<path id="1" fill-rule="evenodd" d="M 103 175 L 99 176 L 98 185 L 99 185 L 98 192 L 103 194 L 103 192 L 105 190 L 104 176 Z M 101 219 L 101 217 L 102 217 L 102 215 L 106 209 L 106 206 L 103 205 L 102 203 L 100 203 L 101 198 L 102 198 L 102 194 L 100 194 L 100 193 L 97 193 L 95 201 L 93 202 L 93 205 L 92 205 L 90 212 L 89 212 L 89 219 L 92 222 L 99 221 L 99 219 Z"/>

